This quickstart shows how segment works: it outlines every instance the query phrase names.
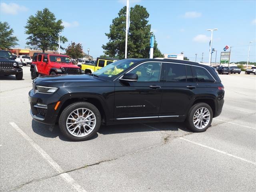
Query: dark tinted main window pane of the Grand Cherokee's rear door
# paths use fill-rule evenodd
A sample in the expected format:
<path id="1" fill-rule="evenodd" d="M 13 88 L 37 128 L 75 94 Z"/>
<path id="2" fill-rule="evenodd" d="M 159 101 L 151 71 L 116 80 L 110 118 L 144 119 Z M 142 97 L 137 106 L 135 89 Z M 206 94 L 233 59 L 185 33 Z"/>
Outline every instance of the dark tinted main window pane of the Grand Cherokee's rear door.
<path id="1" fill-rule="evenodd" d="M 186 82 L 186 66 L 182 64 L 166 63 L 167 82 Z"/>

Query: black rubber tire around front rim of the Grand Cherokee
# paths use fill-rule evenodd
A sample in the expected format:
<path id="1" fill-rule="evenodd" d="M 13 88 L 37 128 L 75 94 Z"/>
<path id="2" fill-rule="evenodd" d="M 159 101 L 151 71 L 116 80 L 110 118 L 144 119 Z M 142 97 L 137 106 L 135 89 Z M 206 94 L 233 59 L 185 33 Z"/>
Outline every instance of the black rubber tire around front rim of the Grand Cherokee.
<path id="1" fill-rule="evenodd" d="M 87 109 L 91 110 L 96 117 L 96 125 L 94 127 L 94 130 L 92 130 L 92 132 L 90 132 L 88 135 L 83 136 L 83 137 L 73 136 L 72 134 L 70 134 L 70 132 L 68 132 L 68 129 L 66 126 L 66 120 L 67 120 L 68 116 L 70 115 L 70 113 L 72 111 L 74 111 L 78 108 L 87 108 Z M 92 136 L 94 136 L 98 132 L 100 125 L 101 125 L 101 115 L 100 115 L 99 110 L 96 108 L 96 106 L 94 106 L 93 104 L 88 103 L 88 102 L 76 102 L 76 103 L 70 104 L 62 111 L 62 113 L 60 114 L 60 118 L 59 118 L 60 131 L 66 138 L 68 138 L 72 141 L 85 141 L 85 140 L 92 138 Z"/>

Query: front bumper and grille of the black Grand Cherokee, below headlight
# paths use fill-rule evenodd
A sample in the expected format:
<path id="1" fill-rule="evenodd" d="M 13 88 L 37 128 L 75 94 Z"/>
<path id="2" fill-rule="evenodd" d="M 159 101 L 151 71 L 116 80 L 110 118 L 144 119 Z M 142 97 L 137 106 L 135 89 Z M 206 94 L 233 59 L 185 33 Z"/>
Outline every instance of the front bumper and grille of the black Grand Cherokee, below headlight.
<path id="1" fill-rule="evenodd" d="M 33 90 L 30 90 L 28 95 L 28 100 L 30 103 L 30 114 L 32 118 L 43 124 L 56 124 L 58 113 L 56 110 L 54 110 L 54 107 L 60 96 L 57 93 L 34 93 Z"/>

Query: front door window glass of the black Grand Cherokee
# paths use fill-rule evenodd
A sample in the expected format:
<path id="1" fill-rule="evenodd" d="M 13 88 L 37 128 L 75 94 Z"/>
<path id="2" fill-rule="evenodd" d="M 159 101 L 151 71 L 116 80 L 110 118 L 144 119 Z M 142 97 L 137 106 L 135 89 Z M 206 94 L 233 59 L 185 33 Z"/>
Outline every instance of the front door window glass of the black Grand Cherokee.
<path id="1" fill-rule="evenodd" d="M 160 80 L 161 63 L 144 63 L 129 73 L 137 74 L 138 82 L 156 82 Z"/>

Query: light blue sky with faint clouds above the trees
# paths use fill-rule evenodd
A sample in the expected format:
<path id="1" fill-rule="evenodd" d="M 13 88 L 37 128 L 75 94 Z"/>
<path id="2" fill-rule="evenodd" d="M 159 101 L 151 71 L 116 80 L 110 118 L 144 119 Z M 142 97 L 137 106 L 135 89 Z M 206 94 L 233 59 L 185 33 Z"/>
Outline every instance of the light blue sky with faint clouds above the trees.
<path id="1" fill-rule="evenodd" d="M 190 60 L 209 59 L 208 28 L 218 28 L 213 34 L 213 48 L 217 50 L 217 61 L 224 46 L 232 47 L 231 61 L 247 60 L 248 44 L 250 61 L 256 61 L 256 1 L 160 1 L 134 0 L 130 6 L 140 4 L 150 14 L 149 24 L 156 36 L 158 48 L 163 54 L 184 52 Z M 84 51 L 90 48 L 90 55 L 103 54 L 102 44 L 108 39 L 112 19 L 126 1 L 3 1 L 1 0 L 0 20 L 6 21 L 14 29 L 20 48 L 26 46 L 27 35 L 24 26 L 30 15 L 37 10 L 49 8 L 57 19 L 62 19 L 64 32 L 70 42 L 80 42 Z M 129 50 L 128 50 L 129 51 Z M 215 53 L 212 61 L 215 60 Z"/>

